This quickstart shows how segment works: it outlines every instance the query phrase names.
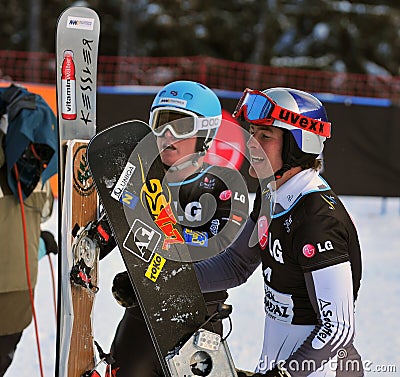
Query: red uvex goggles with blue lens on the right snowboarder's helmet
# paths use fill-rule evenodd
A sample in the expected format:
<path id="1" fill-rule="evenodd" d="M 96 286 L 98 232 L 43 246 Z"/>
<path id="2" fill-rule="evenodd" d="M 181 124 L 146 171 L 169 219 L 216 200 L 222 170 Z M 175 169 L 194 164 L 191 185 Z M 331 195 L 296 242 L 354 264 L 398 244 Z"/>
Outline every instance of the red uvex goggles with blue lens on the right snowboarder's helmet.
<path id="1" fill-rule="evenodd" d="M 312 132 L 326 138 L 331 137 L 331 123 L 313 119 L 285 109 L 259 90 L 246 89 L 240 98 L 232 116 L 244 119 L 255 125 L 272 125 L 280 120 L 293 127 Z"/>

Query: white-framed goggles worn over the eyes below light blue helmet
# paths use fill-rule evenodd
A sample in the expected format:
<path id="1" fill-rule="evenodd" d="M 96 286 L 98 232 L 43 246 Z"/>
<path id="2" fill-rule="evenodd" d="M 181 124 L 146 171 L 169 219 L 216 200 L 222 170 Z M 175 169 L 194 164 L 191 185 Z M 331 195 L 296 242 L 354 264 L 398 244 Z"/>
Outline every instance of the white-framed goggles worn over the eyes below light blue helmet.
<path id="1" fill-rule="evenodd" d="M 169 130 L 176 139 L 186 139 L 195 136 L 198 131 L 218 128 L 221 119 L 221 115 L 203 118 L 189 110 L 165 106 L 152 111 L 150 127 L 157 137 Z"/>

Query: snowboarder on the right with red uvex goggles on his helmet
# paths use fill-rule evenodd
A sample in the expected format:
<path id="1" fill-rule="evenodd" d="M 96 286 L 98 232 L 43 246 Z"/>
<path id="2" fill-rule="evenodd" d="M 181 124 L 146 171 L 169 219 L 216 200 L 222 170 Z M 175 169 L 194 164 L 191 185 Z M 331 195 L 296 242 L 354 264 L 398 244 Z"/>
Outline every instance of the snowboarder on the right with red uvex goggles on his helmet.
<path id="1" fill-rule="evenodd" d="M 356 228 L 317 158 L 331 124 L 314 96 L 246 89 L 234 117 L 249 123 L 254 210 L 224 253 L 198 262 L 203 292 L 244 283 L 261 263 L 264 344 L 254 373 L 239 377 L 363 376 L 354 346 L 361 281 Z"/>

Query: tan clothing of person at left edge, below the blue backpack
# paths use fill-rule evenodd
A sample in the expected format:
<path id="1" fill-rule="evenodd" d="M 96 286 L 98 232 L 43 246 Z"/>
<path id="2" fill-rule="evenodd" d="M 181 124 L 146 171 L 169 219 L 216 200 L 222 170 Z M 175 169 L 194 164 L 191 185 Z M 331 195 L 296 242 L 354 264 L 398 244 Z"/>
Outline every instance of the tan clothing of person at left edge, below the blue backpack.
<path id="1" fill-rule="evenodd" d="M 0 169 L 0 376 L 10 366 L 23 330 L 32 321 L 32 308 L 25 268 L 25 246 L 19 201 L 12 195 L 5 169 Z M 53 196 L 49 181 L 39 182 L 24 202 L 31 284 L 37 281 L 39 242 L 41 254 L 56 252 L 55 240 L 41 223 L 51 216 Z M 41 233 L 43 240 L 40 240 Z"/>

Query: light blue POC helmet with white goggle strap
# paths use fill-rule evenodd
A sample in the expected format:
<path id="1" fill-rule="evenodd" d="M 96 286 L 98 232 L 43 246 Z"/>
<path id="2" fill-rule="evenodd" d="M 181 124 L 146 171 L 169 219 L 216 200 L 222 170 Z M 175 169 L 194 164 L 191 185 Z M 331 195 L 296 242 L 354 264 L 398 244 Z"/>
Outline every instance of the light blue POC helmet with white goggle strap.
<path id="1" fill-rule="evenodd" d="M 153 100 L 149 120 L 153 131 L 159 115 L 168 111 L 196 119 L 193 122 L 194 128 L 187 137 L 197 136 L 196 151 L 205 153 L 222 120 L 221 104 L 217 95 L 207 86 L 195 81 L 173 81 L 164 86 Z"/>

